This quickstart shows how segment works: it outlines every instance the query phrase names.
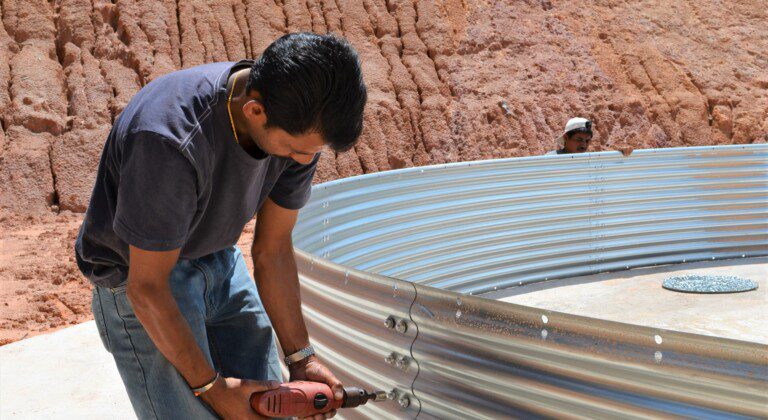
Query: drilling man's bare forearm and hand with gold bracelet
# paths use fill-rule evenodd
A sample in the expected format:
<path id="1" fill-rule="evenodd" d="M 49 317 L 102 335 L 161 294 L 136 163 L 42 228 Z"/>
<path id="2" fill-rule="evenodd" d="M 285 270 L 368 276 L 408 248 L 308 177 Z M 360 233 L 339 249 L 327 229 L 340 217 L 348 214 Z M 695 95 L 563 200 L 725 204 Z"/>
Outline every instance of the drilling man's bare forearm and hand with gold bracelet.
<path id="1" fill-rule="evenodd" d="M 178 249 L 156 252 L 130 246 L 126 296 L 158 350 L 190 388 L 197 388 L 210 382 L 216 372 L 197 345 L 171 293 L 169 277 L 178 258 Z M 278 385 L 272 381 L 221 378 L 201 398 L 224 418 L 260 418 L 250 406 L 251 394 Z"/>

